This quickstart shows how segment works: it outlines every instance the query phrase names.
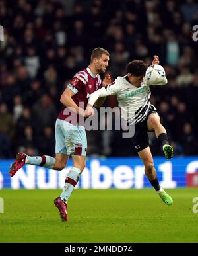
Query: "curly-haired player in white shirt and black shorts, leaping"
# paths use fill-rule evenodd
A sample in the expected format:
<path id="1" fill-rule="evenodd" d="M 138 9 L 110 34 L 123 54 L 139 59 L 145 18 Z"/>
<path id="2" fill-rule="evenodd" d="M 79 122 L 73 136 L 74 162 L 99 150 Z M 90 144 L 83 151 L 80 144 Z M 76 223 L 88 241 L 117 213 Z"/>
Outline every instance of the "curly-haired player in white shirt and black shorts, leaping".
<path id="1" fill-rule="evenodd" d="M 154 56 L 153 64 L 159 64 L 158 56 Z M 99 97 L 117 95 L 117 101 L 121 108 L 123 119 L 129 125 L 135 126 L 135 133 L 132 142 L 135 150 L 145 165 L 145 174 L 151 185 L 162 198 L 165 204 L 171 205 L 172 198 L 160 187 L 156 177 L 152 154 L 149 147 L 149 137 L 147 132 L 155 132 L 156 138 L 162 146 L 166 159 L 173 157 L 173 148 L 168 142 L 166 129 L 160 123 L 160 116 L 156 108 L 150 104 L 150 84 L 145 78 L 147 64 L 141 60 L 133 60 L 127 65 L 127 75 L 117 77 L 114 83 L 95 91 L 90 95 L 86 112 L 94 115 L 92 106 Z M 166 76 L 157 85 L 165 85 Z"/>

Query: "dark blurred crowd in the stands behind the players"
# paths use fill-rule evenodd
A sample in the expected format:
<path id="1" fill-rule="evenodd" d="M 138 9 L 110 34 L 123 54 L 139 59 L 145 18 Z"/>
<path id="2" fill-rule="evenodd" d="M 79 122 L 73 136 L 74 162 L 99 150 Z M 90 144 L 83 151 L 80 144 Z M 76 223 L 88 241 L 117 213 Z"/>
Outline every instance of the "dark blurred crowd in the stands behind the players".
<path id="1" fill-rule="evenodd" d="M 127 62 L 160 56 L 168 85 L 152 86 L 151 102 L 175 155 L 198 152 L 198 4 L 193 0 L 0 0 L 0 158 L 54 155 L 59 98 L 98 46 L 110 52 L 112 79 Z M 198 39 L 198 38 L 197 38 Z M 116 107 L 116 97 L 104 106 Z M 114 116 L 116 120 L 116 114 Z M 108 122 L 107 118 L 100 120 Z M 90 131 L 88 155 L 136 155 L 122 131 Z M 154 134 L 152 153 L 160 155 Z"/>

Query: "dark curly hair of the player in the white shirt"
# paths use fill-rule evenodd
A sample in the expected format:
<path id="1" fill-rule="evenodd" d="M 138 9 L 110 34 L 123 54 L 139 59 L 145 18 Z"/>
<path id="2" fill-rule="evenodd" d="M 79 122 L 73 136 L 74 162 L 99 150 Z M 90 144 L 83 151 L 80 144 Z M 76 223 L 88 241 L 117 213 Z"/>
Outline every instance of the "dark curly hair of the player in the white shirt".
<path id="1" fill-rule="evenodd" d="M 133 60 L 127 64 L 127 73 L 135 77 L 145 76 L 148 65 L 143 60 Z"/>

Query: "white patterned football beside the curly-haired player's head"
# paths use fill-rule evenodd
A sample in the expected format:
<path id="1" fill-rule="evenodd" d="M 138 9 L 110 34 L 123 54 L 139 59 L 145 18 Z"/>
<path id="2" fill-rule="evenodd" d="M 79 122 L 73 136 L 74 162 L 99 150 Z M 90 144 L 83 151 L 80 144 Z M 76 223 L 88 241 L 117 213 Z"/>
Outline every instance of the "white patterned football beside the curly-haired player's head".
<path id="1" fill-rule="evenodd" d="M 161 83 L 164 80 L 164 77 L 166 77 L 164 67 L 156 64 L 150 65 L 147 68 L 145 77 L 150 85 L 156 85 L 158 83 Z"/>

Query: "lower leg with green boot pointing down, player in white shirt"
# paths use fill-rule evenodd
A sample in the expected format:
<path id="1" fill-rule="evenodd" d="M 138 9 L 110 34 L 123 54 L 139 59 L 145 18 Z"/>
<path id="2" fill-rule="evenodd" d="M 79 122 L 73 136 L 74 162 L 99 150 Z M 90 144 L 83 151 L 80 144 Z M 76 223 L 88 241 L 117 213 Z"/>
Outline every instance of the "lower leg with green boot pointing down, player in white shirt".
<path id="1" fill-rule="evenodd" d="M 160 187 L 160 184 L 158 182 L 150 148 L 147 147 L 142 151 L 139 151 L 138 155 L 145 165 L 145 175 L 147 175 L 147 178 L 149 179 L 152 187 L 154 187 L 154 189 L 165 204 L 172 205 L 172 198 L 164 191 L 164 189 L 162 189 L 162 187 Z"/>

